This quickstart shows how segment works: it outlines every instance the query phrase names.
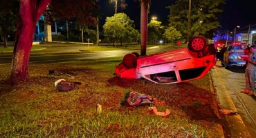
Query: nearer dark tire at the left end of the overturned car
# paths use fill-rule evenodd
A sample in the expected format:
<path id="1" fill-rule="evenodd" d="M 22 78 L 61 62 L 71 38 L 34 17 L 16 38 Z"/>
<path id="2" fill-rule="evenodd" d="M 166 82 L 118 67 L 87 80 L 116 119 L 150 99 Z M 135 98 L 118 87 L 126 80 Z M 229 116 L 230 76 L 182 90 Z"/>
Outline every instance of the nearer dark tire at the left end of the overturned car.
<path id="1" fill-rule="evenodd" d="M 127 54 L 122 59 L 122 63 L 125 65 L 126 68 L 136 68 L 137 66 L 137 57 L 134 54 Z"/>

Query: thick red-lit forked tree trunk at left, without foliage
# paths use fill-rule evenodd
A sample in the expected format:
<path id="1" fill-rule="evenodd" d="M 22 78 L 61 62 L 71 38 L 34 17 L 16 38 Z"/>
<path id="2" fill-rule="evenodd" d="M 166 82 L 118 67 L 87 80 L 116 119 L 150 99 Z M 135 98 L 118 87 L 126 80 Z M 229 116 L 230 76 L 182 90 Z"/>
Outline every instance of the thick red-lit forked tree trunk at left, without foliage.
<path id="1" fill-rule="evenodd" d="M 42 0 L 40 3 L 32 0 L 21 0 L 15 46 L 12 55 L 10 80 L 12 83 L 28 79 L 28 61 L 33 43 L 37 20 L 43 14 L 51 0 Z"/>

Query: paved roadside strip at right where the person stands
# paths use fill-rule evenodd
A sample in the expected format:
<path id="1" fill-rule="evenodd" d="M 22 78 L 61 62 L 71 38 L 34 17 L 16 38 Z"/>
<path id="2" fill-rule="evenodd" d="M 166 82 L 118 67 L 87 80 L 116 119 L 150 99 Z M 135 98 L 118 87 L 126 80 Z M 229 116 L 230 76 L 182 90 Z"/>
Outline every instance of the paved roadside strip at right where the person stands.
<path id="1" fill-rule="evenodd" d="M 241 93 L 245 88 L 244 68 L 232 66 L 226 70 L 217 61 L 212 69 L 217 99 L 223 109 L 239 112 L 239 115 L 227 115 L 228 126 L 232 137 L 256 137 L 256 97 Z M 227 128 L 228 127 L 228 128 Z M 225 128 L 224 128 L 225 129 Z"/>

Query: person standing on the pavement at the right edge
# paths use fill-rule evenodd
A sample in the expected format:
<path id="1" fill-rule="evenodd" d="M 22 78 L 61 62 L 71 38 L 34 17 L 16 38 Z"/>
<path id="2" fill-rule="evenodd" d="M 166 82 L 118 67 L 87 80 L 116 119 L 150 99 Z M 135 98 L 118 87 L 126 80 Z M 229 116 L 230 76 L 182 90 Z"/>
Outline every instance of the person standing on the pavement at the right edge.
<path id="1" fill-rule="evenodd" d="M 255 94 L 255 71 L 256 71 L 256 46 L 250 47 L 250 55 L 247 60 L 246 65 L 246 89 L 241 91 L 241 93 L 246 93 L 249 96 Z"/>

